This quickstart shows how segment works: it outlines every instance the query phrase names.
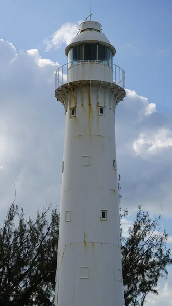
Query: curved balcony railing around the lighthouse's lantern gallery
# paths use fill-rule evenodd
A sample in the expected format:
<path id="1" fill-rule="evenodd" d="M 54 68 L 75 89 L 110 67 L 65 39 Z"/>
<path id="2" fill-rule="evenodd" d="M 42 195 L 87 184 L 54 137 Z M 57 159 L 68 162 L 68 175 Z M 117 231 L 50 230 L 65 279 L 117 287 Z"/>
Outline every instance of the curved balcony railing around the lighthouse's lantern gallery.
<path id="1" fill-rule="evenodd" d="M 82 65 L 81 65 L 82 64 Z M 59 88 L 60 86 L 62 86 L 63 84 L 66 84 L 69 81 L 69 77 L 67 71 L 68 69 L 72 69 L 73 66 L 78 66 L 80 65 L 79 69 L 83 69 L 83 65 L 85 66 L 85 64 L 87 64 L 87 71 L 88 71 L 88 80 L 90 79 L 90 74 L 89 74 L 89 68 L 92 68 L 93 64 L 95 65 L 95 69 L 94 69 L 94 79 L 95 80 L 99 80 L 99 81 L 107 81 L 106 78 L 104 78 L 104 80 L 100 80 L 100 75 L 102 77 L 102 75 L 104 75 L 103 71 L 105 70 L 105 67 L 108 67 L 111 71 L 112 71 L 112 75 L 113 75 L 113 83 L 115 83 L 116 85 L 122 87 L 125 89 L 125 72 L 122 68 L 120 68 L 119 66 L 112 64 L 112 63 L 107 63 L 107 62 L 103 62 L 103 61 L 95 61 L 95 60 L 84 60 L 84 61 L 75 61 L 75 62 L 70 62 L 67 64 L 64 64 L 63 66 L 59 67 L 56 70 L 55 73 L 55 90 L 57 88 Z M 99 65 L 99 69 L 97 69 L 97 75 L 96 75 L 96 65 Z M 100 67 L 102 66 L 102 74 L 100 74 Z M 80 75 L 82 75 L 82 73 L 80 73 Z M 71 78 L 71 74 L 70 74 L 70 78 Z M 86 80 L 86 78 L 84 77 L 84 80 Z M 75 80 L 73 80 L 75 81 Z M 78 80 L 76 80 L 78 81 Z"/>

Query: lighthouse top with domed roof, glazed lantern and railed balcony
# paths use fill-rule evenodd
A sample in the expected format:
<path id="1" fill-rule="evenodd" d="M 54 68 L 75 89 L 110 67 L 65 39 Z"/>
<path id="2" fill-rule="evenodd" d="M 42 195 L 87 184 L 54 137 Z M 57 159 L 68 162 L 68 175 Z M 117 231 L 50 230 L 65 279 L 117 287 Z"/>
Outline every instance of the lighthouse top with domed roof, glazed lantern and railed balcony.
<path id="1" fill-rule="evenodd" d="M 108 82 L 125 88 L 125 72 L 113 64 L 116 50 L 102 32 L 99 22 L 82 22 L 78 33 L 66 47 L 65 54 L 67 63 L 56 71 L 56 89 L 79 81 L 100 81 L 104 85 Z"/>

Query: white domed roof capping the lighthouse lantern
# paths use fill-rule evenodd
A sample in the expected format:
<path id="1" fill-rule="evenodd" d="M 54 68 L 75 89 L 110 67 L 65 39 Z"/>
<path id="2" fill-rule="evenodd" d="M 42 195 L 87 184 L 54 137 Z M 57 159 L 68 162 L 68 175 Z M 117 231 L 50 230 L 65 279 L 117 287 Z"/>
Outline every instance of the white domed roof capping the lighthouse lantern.
<path id="1" fill-rule="evenodd" d="M 84 21 L 79 25 L 79 32 L 72 39 L 71 43 L 66 47 L 65 54 L 68 55 L 69 50 L 74 45 L 84 42 L 97 42 L 109 46 L 113 56 L 116 53 L 115 48 L 111 45 L 109 39 L 101 32 L 102 26 L 96 21 Z"/>

